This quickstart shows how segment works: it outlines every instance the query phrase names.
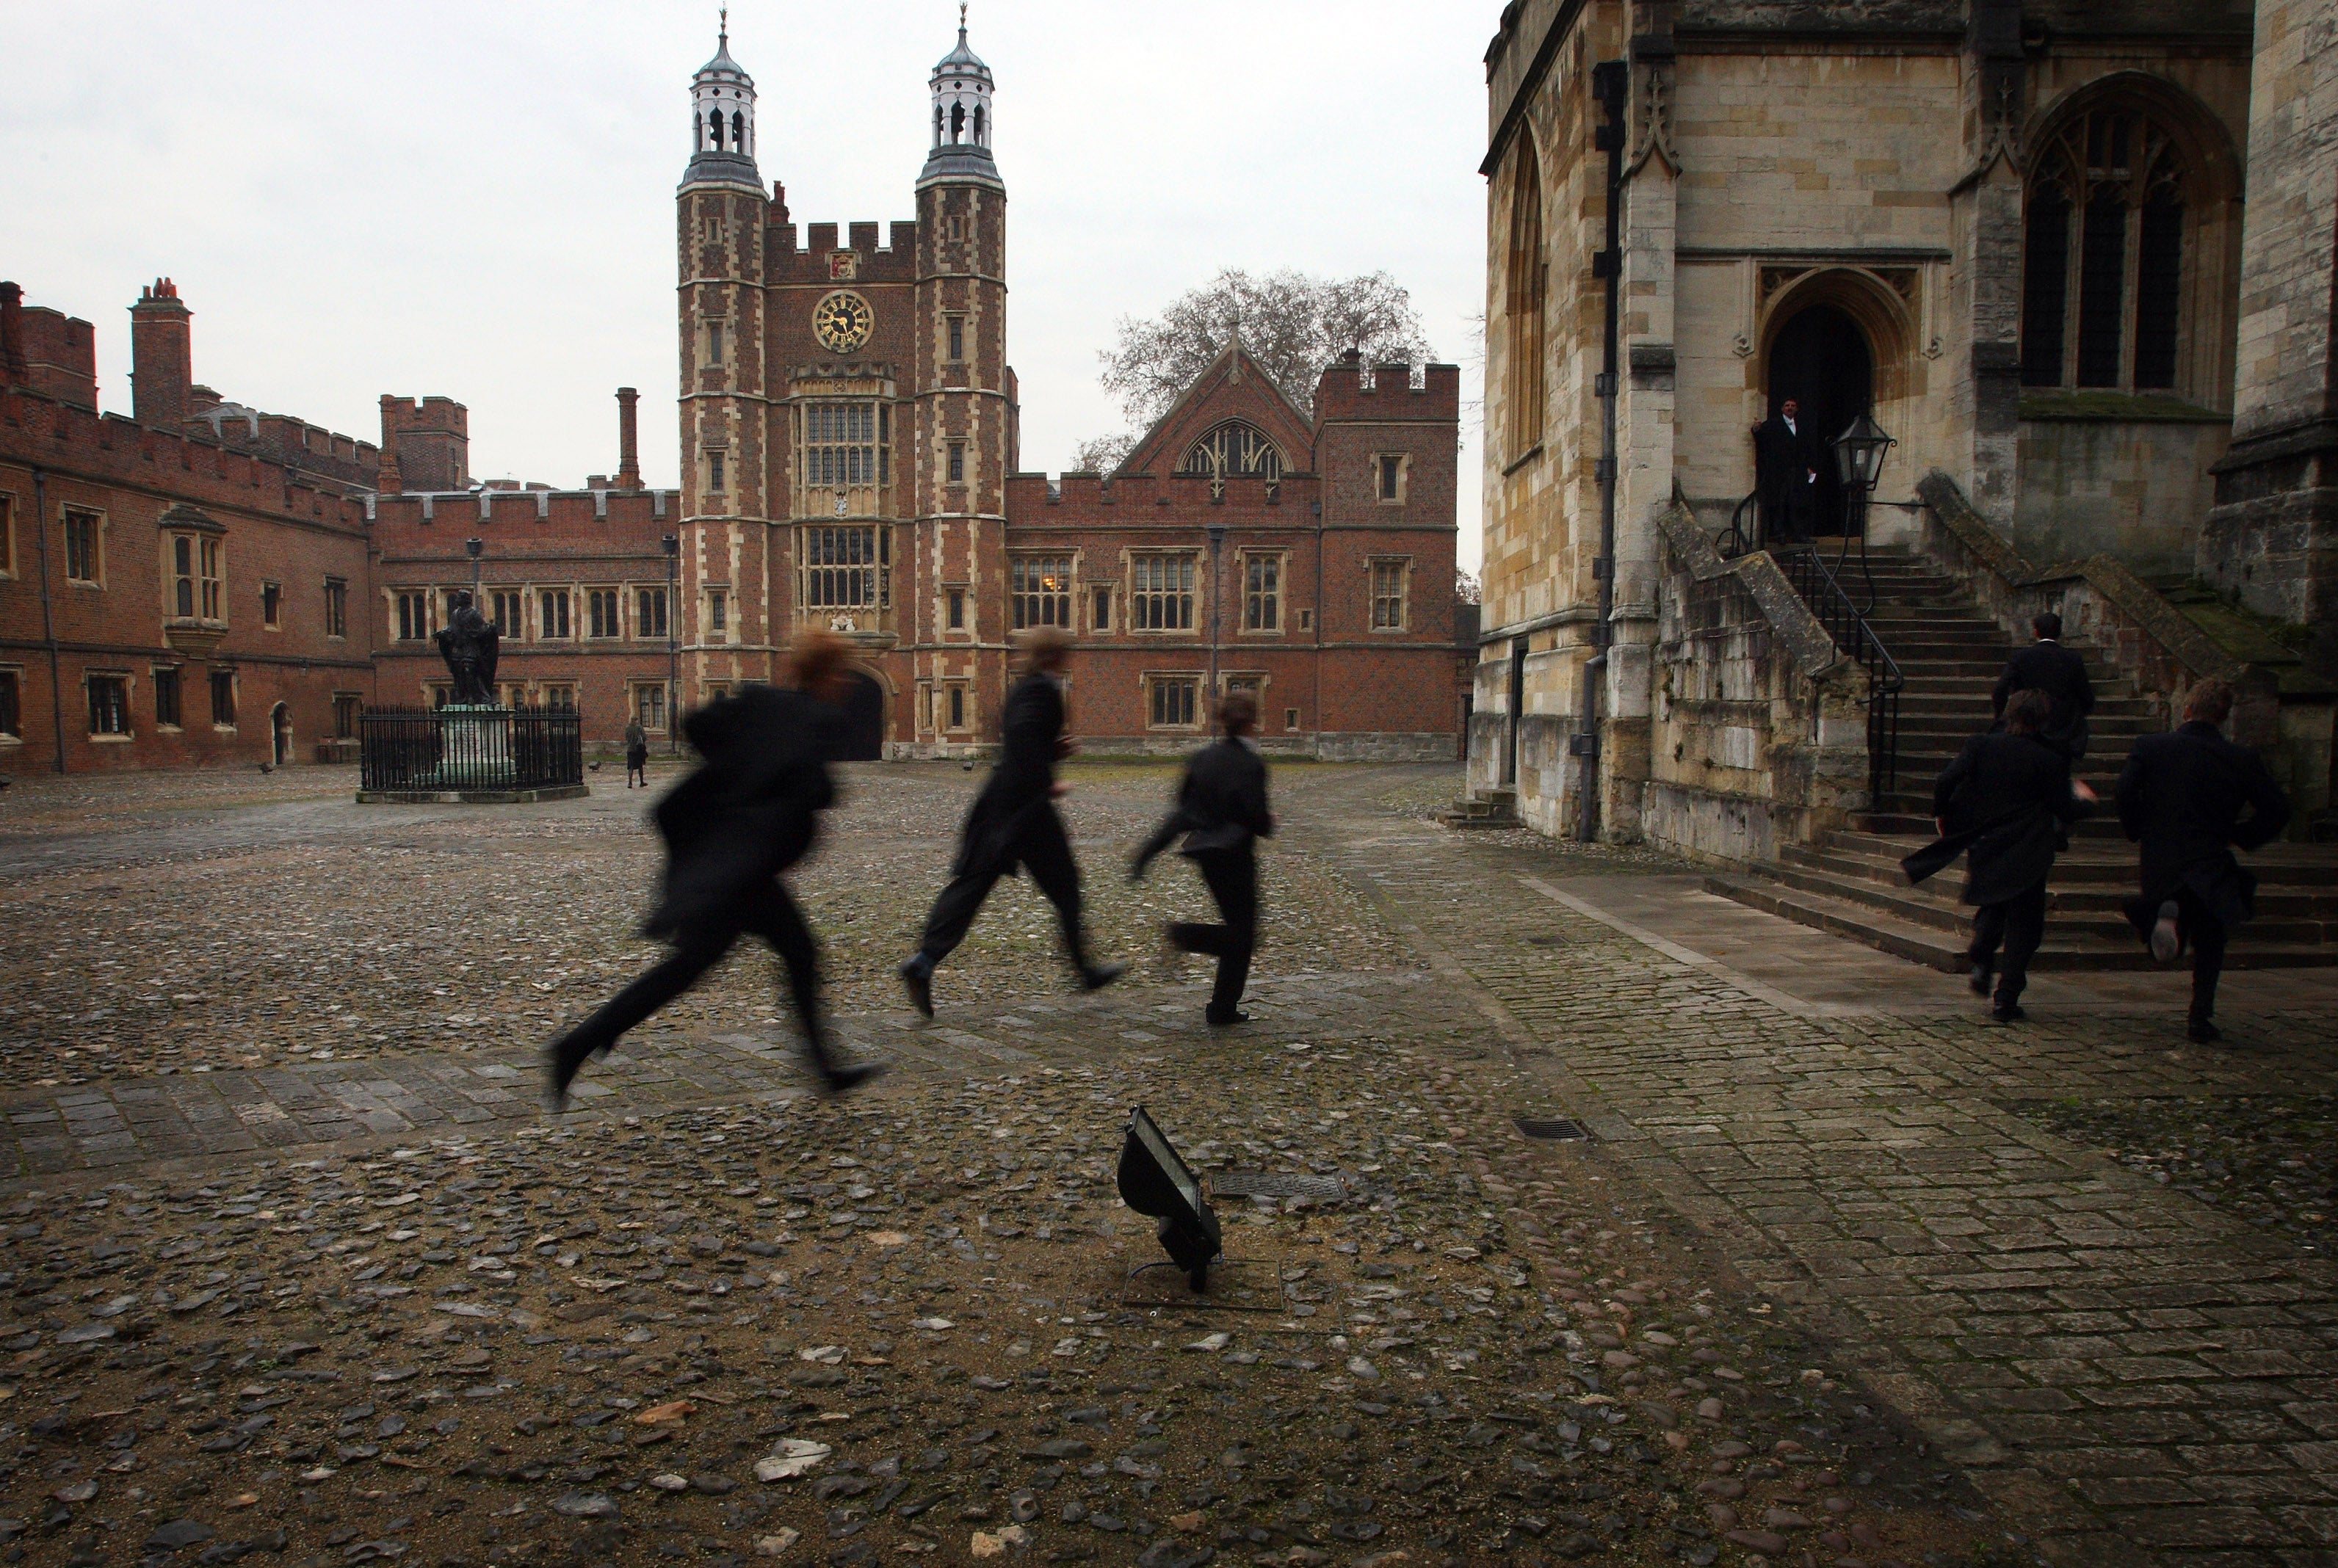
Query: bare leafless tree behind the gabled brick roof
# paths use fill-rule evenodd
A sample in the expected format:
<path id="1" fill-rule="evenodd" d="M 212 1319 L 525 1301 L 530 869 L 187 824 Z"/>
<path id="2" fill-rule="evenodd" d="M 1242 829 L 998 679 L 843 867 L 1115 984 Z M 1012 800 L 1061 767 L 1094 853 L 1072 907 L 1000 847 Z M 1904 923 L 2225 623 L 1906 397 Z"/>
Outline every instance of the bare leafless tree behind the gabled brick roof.
<path id="1" fill-rule="evenodd" d="M 1104 360 L 1097 379 L 1120 397 L 1129 425 L 1143 430 L 1237 334 L 1305 418 L 1314 418 L 1323 367 L 1349 348 L 1363 353 L 1365 365 L 1436 358 L 1412 297 L 1389 273 L 1309 278 L 1291 269 L 1246 273 L 1230 266 L 1171 299 L 1160 315 L 1122 315 L 1120 341 L 1097 355 Z M 1099 437 L 1078 449 L 1075 463 L 1108 470 L 1134 444 L 1132 435 Z"/>

